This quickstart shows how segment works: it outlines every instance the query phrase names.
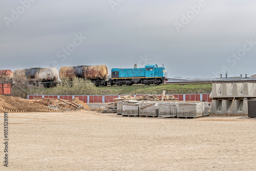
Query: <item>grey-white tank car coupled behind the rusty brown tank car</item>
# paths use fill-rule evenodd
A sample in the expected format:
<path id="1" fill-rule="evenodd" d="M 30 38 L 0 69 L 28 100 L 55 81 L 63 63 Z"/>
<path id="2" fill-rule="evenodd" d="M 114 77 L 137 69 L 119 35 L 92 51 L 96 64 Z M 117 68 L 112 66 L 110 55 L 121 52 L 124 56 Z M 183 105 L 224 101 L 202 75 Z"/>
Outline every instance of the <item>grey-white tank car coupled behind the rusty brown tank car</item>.
<path id="1" fill-rule="evenodd" d="M 56 68 L 30 68 L 17 69 L 13 72 L 15 82 L 28 79 L 30 84 L 44 87 L 54 87 L 58 80 L 58 70 Z"/>

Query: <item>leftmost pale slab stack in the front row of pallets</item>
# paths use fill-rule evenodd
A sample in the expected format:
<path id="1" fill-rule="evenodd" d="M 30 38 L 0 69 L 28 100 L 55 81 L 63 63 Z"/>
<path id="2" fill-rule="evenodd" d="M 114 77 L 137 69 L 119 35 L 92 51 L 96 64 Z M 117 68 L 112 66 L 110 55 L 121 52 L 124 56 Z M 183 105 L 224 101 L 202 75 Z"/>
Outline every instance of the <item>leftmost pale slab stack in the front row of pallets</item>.
<path id="1" fill-rule="evenodd" d="M 125 100 L 122 107 L 122 116 L 139 116 L 139 102 L 137 100 Z"/>

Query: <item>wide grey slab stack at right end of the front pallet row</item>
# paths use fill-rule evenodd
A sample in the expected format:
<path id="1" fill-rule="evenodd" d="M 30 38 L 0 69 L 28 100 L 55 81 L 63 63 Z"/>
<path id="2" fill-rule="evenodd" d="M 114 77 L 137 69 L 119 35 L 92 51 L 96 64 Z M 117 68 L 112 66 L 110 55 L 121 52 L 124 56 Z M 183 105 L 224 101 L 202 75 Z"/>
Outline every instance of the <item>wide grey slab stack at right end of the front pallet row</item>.
<path id="1" fill-rule="evenodd" d="M 177 117 L 203 116 L 204 106 L 202 102 L 179 102 L 177 104 Z"/>

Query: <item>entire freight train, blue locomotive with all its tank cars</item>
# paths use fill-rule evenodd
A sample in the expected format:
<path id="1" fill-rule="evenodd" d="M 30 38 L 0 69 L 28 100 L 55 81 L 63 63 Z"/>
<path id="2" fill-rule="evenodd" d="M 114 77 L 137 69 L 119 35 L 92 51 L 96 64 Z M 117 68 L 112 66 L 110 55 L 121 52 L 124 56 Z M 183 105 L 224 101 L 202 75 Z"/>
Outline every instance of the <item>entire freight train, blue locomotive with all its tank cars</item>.
<path id="1" fill-rule="evenodd" d="M 146 65 L 144 68 L 137 68 L 137 65 L 127 69 L 113 68 L 109 79 L 108 74 L 105 65 L 61 67 L 59 72 L 56 68 L 17 69 L 13 73 L 11 70 L 0 70 L 0 78 L 13 78 L 15 82 L 27 80 L 33 86 L 43 85 L 46 88 L 56 86 L 58 78 L 71 81 L 74 77 L 86 78 L 92 80 L 95 86 L 132 86 L 138 83 L 159 85 L 168 80 L 164 67 L 157 65 Z"/>

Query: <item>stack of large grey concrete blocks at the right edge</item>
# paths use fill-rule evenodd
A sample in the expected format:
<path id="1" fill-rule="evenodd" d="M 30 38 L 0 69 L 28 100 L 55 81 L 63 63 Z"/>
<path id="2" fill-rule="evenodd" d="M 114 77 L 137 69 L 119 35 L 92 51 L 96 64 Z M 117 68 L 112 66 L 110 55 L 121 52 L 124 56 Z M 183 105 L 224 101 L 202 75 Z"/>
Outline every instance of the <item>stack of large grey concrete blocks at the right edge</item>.
<path id="1" fill-rule="evenodd" d="M 210 113 L 248 114 L 247 99 L 256 98 L 256 83 L 214 83 L 210 94 L 212 107 Z"/>

